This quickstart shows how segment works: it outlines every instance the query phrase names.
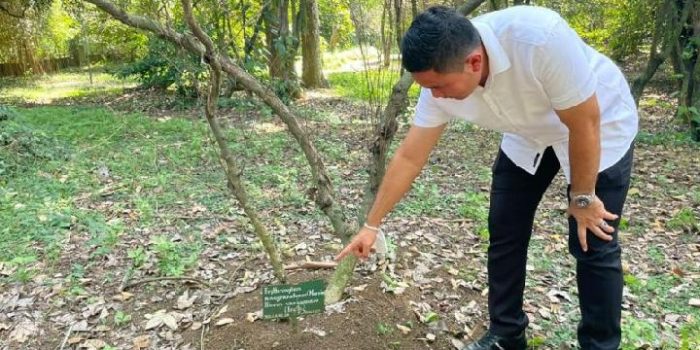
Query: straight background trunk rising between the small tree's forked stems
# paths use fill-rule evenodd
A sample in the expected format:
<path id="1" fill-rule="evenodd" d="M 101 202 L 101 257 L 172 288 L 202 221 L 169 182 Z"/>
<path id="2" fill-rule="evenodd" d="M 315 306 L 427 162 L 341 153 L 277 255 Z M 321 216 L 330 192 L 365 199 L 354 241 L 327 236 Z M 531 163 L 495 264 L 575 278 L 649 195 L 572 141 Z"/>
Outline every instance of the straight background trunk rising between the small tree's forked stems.
<path id="1" fill-rule="evenodd" d="M 300 12 L 303 61 L 301 80 L 307 88 L 328 87 L 322 70 L 318 3 L 316 0 L 302 0 Z"/>

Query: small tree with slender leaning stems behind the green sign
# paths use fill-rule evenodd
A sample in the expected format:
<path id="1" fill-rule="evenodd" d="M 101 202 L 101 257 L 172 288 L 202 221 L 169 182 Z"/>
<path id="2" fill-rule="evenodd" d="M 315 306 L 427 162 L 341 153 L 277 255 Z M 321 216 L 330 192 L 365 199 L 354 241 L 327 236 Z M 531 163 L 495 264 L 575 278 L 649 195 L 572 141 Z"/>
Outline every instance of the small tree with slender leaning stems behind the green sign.
<path id="1" fill-rule="evenodd" d="M 274 93 L 272 93 L 269 88 L 265 87 L 253 76 L 243 70 L 225 53 L 214 49 L 211 38 L 209 38 L 209 36 L 201 30 L 201 27 L 194 20 L 191 13 L 191 5 L 189 0 L 182 0 L 182 2 L 183 8 L 186 11 L 185 14 L 188 26 L 194 33 L 194 36 L 186 32 L 177 32 L 169 27 L 160 25 L 150 18 L 129 14 L 108 0 L 84 1 L 95 4 L 99 9 L 109 13 L 112 17 L 126 25 L 150 31 L 163 39 L 185 48 L 192 54 L 202 57 L 203 61 L 207 62 L 207 64 L 211 67 L 213 80 L 210 82 L 209 98 L 207 100 L 207 109 L 205 110 L 207 120 L 212 128 L 212 132 L 217 138 L 217 143 L 221 150 L 221 156 L 225 165 L 227 179 L 231 184 L 231 187 L 233 187 L 234 194 L 236 195 L 236 198 L 241 206 L 244 208 L 246 215 L 253 222 L 256 234 L 258 234 L 258 237 L 265 245 L 268 257 L 270 258 L 276 272 L 276 277 L 280 281 L 284 281 L 285 277 L 283 271 L 281 270 L 281 264 L 277 258 L 278 254 L 276 253 L 276 248 L 274 245 L 272 245 L 272 241 L 269 240 L 269 237 L 265 237 L 265 230 L 262 223 L 259 220 L 253 219 L 257 218 L 257 215 L 255 214 L 254 210 L 247 205 L 247 197 L 245 196 L 243 186 L 237 185 L 237 181 L 240 181 L 240 179 L 237 179 L 236 176 L 239 174 L 240 169 L 236 166 L 233 156 L 228 154 L 225 140 L 219 136 L 216 136 L 221 135 L 221 132 L 217 131 L 219 126 L 215 122 L 216 118 L 214 109 L 216 101 L 215 98 L 218 96 L 217 91 L 219 84 L 219 71 L 225 72 L 229 75 L 229 77 L 235 79 L 237 82 L 240 82 L 240 84 L 246 90 L 257 95 L 266 104 L 268 104 L 287 125 L 288 131 L 301 146 L 302 152 L 304 153 L 310 167 L 313 189 L 309 192 L 314 193 L 313 199 L 316 202 L 316 205 L 329 218 L 333 226 L 333 230 L 343 242 L 347 242 L 350 240 L 350 238 L 352 238 L 352 235 L 357 232 L 359 225 L 350 224 L 346 213 L 341 209 L 341 206 L 336 201 L 333 186 L 322 158 L 313 143 L 310 142 L 307 132 L 301 128 L 297 117 L 294 115 L 294 113 L 292 113 L 287 105 L 285 105 Z M 476 7 L 478 7 L 484 1 L 485 0 L 470 0 L 467 2 L 467 4 L 460 7 L 460 11 L 467 14 L 476 9 Z M 372 176 L 366 187 L 367 191 L 365 192 L 364 200 L 365 209 L 362 210 L 360 219 L 356 222 L 361 221 L 367 211 L 368 203 L 371 203 L 374 200 L 374 195 L 376 194 L 381 178 L 384 175 L 389 144 L 391 143 L 391 140 L 393 140 L 397 129 L 396 118 L 407 105 L 407 92 L 412 82 L 413 80 L 409 73 L 404 73 L 401 76 L 401 79 L 395 84 L 392 90 L 389 102 L 383 109 L 380 121 L 375 127 L 375 135 L 371 147 L 372 165 L 370 166 L 370 173 Z M 270 244 L 266 245 L 266 241 L 268 241 Z M 338 301 L 341 298 L 343 290 L 352 276 L 356 261 L 357 260 L 354 257 L 349 256 L 339 264 L 336 272 L 331 277 L 326 290 L 327 303 Z"/>

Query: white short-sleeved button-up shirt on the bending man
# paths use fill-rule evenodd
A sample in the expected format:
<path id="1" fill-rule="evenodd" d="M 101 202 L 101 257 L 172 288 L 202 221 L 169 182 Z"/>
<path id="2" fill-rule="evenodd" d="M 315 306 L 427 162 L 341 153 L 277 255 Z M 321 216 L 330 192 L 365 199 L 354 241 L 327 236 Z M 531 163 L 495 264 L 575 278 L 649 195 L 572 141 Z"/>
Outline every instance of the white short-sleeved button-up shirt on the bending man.
<path id="1" fill-rule="evenodd" d="M 472 19 L 486 48 L 489 76 L 463 100 L 435 98 L 422 88 L 414 125 L 434 127 L 461 119 L 503 132 L 501 148 L 534 174 L 552 146 L 571 182 L 569 131 L 554 110 L 574 107 L 596 93 L 601 112 L 599 171 L 615 164 L 637 133 L 637 109 L 627 81 L 554 11 L 515 6 Z"/>

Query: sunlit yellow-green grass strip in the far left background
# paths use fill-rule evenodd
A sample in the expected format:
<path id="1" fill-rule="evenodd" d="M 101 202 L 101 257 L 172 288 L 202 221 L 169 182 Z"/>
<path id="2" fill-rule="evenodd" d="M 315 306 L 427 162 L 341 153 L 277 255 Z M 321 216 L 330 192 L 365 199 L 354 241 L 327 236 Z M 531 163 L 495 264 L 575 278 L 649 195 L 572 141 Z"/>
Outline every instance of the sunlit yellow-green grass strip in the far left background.
<path id="1" fill-rule="evenodd" d="M 95 72 L 92 84 L 85 71 L 73 71 L 22 78 L 0 78 L 0 101 L 48 104 L 60 99 L 105 95 L 132 88 L 136 83 L 111 74 Z"/>

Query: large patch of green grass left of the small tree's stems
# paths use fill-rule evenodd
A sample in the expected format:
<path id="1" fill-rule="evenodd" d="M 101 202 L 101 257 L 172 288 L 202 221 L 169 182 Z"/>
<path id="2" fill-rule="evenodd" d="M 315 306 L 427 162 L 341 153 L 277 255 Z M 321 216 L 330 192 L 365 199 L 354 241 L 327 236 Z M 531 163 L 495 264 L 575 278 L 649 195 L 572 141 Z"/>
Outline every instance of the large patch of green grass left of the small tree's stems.
<path id="1" fill-rule="evenodd" d="M 158 123 L 100 109 L 18 112 L 1 130 L 21 129 L 32 152 L 0 179 L 0 261 L 24 266 L 38 257 L 57 260 L 69 231 L 89 237 L 93 256 L 108 254 L 134 228 L 124 222 L 125 211 L 136 226 L 148 226 L 145 207 L 177 206 L 187 196 L 204 200 L 211 196 L 206 183 L 221 178 L 201 171 L 216 163 L 202 147 L 206 133 L 199 123 Z M 60 157 L 37 155 L 54 144 L 61 146 Z M 95 208 L 105 199 L 112 205 Z"/>

